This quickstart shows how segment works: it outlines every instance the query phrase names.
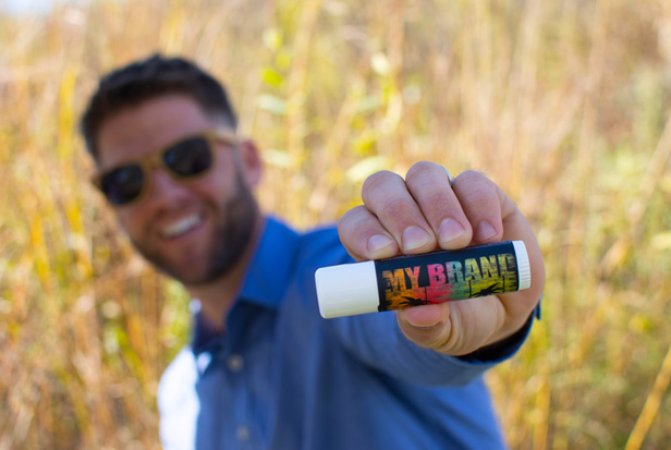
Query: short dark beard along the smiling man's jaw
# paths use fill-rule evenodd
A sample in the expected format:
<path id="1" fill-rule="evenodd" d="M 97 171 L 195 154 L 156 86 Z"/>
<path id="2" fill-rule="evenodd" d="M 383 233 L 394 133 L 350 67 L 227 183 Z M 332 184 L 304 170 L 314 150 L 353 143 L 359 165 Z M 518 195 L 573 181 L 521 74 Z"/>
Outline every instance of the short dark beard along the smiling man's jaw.
<path id="1" fill-rule="evenodd" d="M 206 256 L 208 262 L 205 272 L 195 277 L 182 273 L 160 251 L 150 250 L 135 240 L 133 245 L 149 263 L 182 283 L 207 284 L 229 272 L 243 257 L 254 235 L 256 211 L 256 199 L 237 172 L 235 195 L 219 206 L 219 221 L 215 229 L 211 251 Z"/>

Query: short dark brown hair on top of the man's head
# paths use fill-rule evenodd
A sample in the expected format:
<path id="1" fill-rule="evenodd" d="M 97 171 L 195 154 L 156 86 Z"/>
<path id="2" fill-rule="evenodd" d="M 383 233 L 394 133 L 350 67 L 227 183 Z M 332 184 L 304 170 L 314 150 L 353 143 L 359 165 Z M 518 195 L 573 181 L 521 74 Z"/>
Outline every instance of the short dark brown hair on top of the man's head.
<path id="1" fill-rule="evenodd" d="M 154 54 L 100 80 L 81 123 L 86 148 L 94 159 L 98 159 L 98 133 L 106 120 L 126 108 L 170 94 L 190 96 L 206 114 L 221 118 L 232 127 L 237 125 L 225 90 L 217 80 L 185 59 Z"/>

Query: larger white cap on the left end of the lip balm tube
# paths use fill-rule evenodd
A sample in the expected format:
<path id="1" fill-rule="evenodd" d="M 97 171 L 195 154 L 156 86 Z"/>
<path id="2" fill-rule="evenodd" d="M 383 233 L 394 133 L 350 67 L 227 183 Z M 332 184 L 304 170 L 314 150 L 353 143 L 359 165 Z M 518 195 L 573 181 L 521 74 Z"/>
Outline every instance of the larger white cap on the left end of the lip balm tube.
<path id="1" fill-rule="evenodd" d="M 315 282 L 319 313 L 325 319 L 378 311 L 375 262 L 322 267 L 315 272 Z"/>

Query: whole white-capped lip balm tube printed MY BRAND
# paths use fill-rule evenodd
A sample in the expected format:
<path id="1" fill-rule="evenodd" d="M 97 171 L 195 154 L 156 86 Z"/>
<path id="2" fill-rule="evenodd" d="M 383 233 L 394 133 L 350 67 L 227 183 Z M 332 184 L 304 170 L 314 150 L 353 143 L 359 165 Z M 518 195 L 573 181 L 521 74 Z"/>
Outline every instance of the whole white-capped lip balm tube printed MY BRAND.
<path id="1" fill-rule="evenodd" d="M 324 318 L 475 299 L 528 289 L 522 241 L 322 267 L 315 272 Z"/>

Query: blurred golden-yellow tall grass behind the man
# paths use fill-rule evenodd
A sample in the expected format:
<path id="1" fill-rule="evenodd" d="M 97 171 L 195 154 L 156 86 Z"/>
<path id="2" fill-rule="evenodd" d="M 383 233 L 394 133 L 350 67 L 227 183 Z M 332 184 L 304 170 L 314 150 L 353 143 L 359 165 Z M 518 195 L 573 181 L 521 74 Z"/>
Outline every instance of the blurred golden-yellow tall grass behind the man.
<path id="1" fill-rule="evenodd" d="M 379 169 L 484 171 L 532 221 L 544 318 L 488 374 L 515 449 L 671 441 L 671 2 L 0 0 L 0 449 L 158 448 L 188 297 L 88 183 L 80 114 L 152 52 L 222 80 L 264 207 L 308 228 Z"/>

